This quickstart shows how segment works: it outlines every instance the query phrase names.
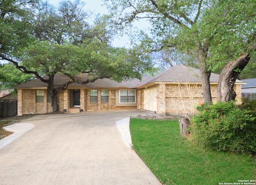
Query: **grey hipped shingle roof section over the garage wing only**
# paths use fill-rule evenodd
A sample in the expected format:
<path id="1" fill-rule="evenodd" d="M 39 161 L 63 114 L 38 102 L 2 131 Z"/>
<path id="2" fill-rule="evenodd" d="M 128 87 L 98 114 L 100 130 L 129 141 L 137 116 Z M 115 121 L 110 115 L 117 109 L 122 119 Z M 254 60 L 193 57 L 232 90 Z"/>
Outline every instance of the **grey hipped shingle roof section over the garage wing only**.
<path id="1" fill-rule="evenodd" d="M 141 83 L 138 87 L 142 87 L 148 84 L 160 82 L 160 83 L 201 83 L 201 71 L 185 65 L 176 65 L 163 73 L 160 73 L 154 77 L 151 77 Z M 218 74 L 211 73 L 210 83 L 218 83 Z M 236 80 L 236 83 L 242 83 L 242 81 Z"/>

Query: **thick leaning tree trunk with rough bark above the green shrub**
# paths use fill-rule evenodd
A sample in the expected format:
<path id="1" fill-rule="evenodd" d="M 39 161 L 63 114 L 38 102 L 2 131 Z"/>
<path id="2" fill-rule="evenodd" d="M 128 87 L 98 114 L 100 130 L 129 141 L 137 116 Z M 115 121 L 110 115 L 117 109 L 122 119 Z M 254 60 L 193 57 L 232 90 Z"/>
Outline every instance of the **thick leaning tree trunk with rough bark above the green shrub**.
<path id="1" fill-rule="evenodd" d="M 256 49 L 256 43 L 249 48 L 250 50 Z M 217 100 L 229 102 L 236 98 L 236 92 L 233 89 L 234 83 L 238 78 L 238 75 L 241 71 L 246 67 L 250 60 L 250 54 L 245 53 L 244 55 L 240 56 L 238 59 L 234 61 L 230 61 L 226 64 L 226 66 L 222 69 L 218 80 L 218 87 L 217 87 Z"/>

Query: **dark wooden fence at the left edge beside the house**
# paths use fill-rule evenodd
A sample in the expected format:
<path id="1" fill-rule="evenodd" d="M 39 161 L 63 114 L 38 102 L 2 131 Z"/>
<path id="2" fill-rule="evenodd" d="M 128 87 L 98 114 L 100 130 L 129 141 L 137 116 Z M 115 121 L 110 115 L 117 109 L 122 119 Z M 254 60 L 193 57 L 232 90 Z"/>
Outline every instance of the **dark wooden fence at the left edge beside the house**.
<path id="1" fill-rule="evenodd" d="M 0 117 L 16 116 L 18 113 L 18 101 L 0 102 Z"/>

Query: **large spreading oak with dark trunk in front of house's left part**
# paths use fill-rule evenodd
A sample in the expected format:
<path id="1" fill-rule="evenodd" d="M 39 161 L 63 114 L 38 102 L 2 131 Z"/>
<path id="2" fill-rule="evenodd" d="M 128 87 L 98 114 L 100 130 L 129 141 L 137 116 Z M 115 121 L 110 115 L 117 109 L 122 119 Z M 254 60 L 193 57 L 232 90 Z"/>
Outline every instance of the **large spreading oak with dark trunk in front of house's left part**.
<path id="1" fill-rule="evenodd" d="M 92 25 L 86 22 L 90 12 L 84 11 L 84 2 L 64 0 L 58 7 L 47 1 L 22 3 L 10 0 L 17 12 L 8 9 L 9 4 L 1 4 L 0 24 L 12 27 L 12 32 L 0 33 L 0 39 L 4 40 L 4 44 L 0 43 L 0 60 L 13 63 L 23 73 L 34 74 L 47 83 L 53 111 L 58 111 L 57 92 L 70 83 L 102 78 L 140 79 L 144 70 L 150 69 L 148 55 L 111 45 L 112 32 L 106 30 L 106 21 L 98 18 Z M 17 24 L 23 24 L 20 30 L 16 30 Z M 14 39 L 6 39 L 10 33 Z M 53 81 L 57 73 L 70 77 L 70 81 L 55 89 Z M 88 73 L 88 80 L 76 78 L 80 73 Z"/>

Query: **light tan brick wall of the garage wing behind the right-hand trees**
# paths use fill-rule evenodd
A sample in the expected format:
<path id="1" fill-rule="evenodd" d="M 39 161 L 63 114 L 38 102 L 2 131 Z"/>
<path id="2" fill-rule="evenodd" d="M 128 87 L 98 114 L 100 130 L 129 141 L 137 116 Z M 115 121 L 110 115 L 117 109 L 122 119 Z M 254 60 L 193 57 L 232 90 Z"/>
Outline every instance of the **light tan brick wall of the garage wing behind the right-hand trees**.
<path id="1" fill-rule="evenodd" d="M 201 84 L 165 84 L 161 83 L 156 86 L 157 89 L 157 112 L 170 114 L 191 115 L 197 112 L 196 107 L 204 102 L 202 97 Z M 239 103 L 241 99 L 241 85 L 235 84 L 236 100 Z M 211 84 L 212 101 L 217 101 L 217 84 Z M 144 97 L 142 96 L 142 101 Z M 144 104 L 142 102 L 142 109 Z"/>

